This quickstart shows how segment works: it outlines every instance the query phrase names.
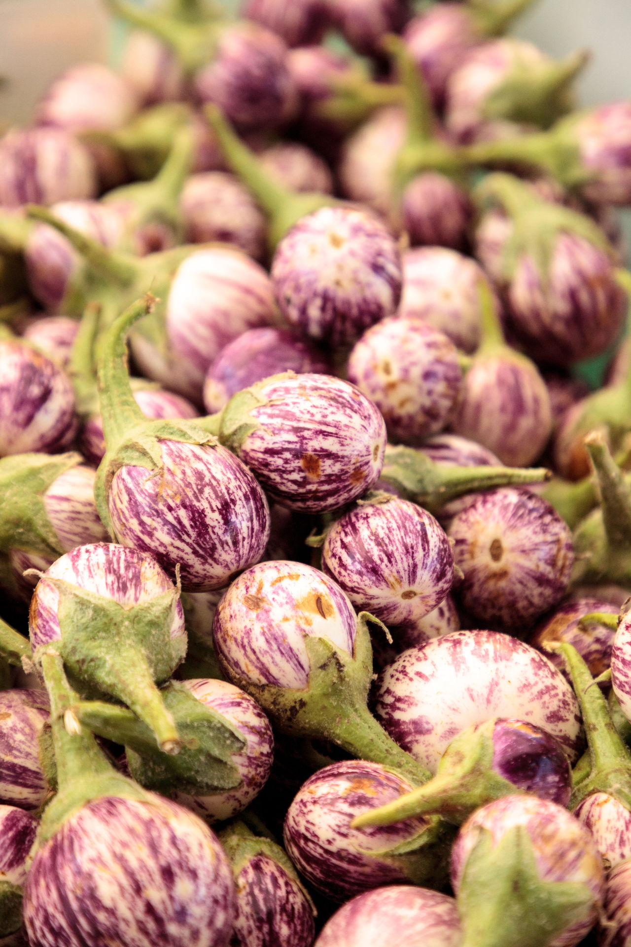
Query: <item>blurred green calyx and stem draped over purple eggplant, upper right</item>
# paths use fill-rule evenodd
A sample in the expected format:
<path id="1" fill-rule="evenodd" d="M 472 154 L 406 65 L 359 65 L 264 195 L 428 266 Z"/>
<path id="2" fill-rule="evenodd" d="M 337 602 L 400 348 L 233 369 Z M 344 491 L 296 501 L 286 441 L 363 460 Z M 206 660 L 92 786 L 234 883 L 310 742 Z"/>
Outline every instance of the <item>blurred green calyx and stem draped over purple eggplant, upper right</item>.
<path id="1" fill-rule="evenodd" d="M 501 260 L 503 278 L 507 281 L 515 276 L 521 258 L 528 256 L 547 287 L 557 239 L 562 233 L 580 237 L 611 259 L 614 257 L 614 250 L 597 223 L 570 207 L 538 197 L 512 174 L 487 175 L 473 196 L 479 206 L 499 204 L 513 223 Z"/>

